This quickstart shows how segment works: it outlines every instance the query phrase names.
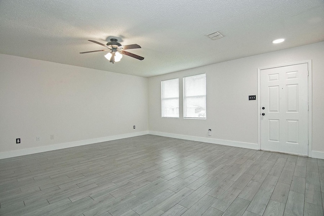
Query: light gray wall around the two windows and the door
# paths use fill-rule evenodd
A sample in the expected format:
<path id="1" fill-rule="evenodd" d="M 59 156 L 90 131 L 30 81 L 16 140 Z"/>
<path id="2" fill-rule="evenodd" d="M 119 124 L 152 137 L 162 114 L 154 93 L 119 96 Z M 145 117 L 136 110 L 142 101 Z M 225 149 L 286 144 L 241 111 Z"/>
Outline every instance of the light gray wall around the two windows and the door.
<path id="1" fill-rule="evenodd" d="M 324 156 L 324 42 L 150 77 L 151 134 L 254 148 L 258 144 L 258 68 L 312 60 L 312 151 Z M 160 81 L 206 73 L 207 119 L 161 118 Z M 180 91 L 180 98 L 182 98 Z M 212 136 L 208 136 L 208 129 Z M 199 139 L 200 138 L 200 139 Z"/>

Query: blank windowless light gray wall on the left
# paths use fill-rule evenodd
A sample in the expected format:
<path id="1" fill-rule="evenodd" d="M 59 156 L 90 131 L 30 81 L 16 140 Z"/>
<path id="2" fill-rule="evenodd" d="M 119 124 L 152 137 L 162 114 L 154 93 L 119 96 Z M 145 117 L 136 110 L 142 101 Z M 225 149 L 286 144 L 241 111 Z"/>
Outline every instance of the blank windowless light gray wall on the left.
<path id="1" fill-rule="evenodd" d="M 143 77 L 0 54 L 0 152 L 147 134 L 147 85 Z"/>

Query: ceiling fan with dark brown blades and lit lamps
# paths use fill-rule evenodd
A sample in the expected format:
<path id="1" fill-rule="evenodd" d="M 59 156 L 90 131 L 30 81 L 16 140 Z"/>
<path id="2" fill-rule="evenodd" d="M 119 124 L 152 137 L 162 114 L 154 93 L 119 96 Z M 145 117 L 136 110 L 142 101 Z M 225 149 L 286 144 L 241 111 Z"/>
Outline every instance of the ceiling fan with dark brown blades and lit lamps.
<path id="1" fill-rule="evenodd" d="M 124 51 L 124 50 L 141 48 L 141 46 L 139 46 L 137 44 L 121 46 L 121 44 L 115 38 L 111 38 L 110 42 L 107 42 L 107 45 L 104 45 L 101 42 L 98 42 L 96 40 L 89 40 L 89 41 L 94 42 L 95 44 L 99 44 L 101 46 L 104 46 L 108 50 L 95 50 L 95 51 L 82 52 L 80 54 L 94 53 L 94 52 L 101 52 L 101 51 L 109 51 L 109 53 L 106 54 L 105 57 L 106 57 L 106 59 L 108 59 L 112 63 L 119 62 L 120 59 L 123 58 L 123 55 L 121 55 L 121 54 L 133 57 L 133 58 L 138 59 L 138 60 L 143 60 L 144 59 L 144 57 L 141 57 L 141 56 L 135 55 L 133 53 Z"/>

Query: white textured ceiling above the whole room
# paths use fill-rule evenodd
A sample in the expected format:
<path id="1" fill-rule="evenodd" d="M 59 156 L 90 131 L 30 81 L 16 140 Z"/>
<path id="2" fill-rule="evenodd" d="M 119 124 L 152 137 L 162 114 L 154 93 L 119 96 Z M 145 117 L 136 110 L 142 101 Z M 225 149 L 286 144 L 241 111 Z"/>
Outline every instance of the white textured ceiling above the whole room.
<path id="1" fill-rule="evenodd" d="M 214 31 L 224 37 L 206 36 Z M 79 54 L 109 36 L 145 59 Z M 323 0 L 0 0 L 0 53 L 143 77 L 323 40 Z"/>

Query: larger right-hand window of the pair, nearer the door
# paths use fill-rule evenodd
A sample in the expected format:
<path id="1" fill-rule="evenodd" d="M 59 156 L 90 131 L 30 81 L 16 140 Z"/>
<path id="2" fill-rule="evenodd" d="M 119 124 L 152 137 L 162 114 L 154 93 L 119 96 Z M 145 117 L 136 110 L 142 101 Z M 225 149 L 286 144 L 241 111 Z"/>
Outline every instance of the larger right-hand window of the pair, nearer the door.
<path id="1" fill-rule="evenodd" d="M 183 117 L 206 119 L 206 74 L 183 78 Z"/>

